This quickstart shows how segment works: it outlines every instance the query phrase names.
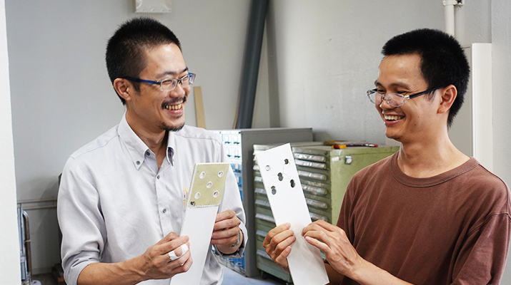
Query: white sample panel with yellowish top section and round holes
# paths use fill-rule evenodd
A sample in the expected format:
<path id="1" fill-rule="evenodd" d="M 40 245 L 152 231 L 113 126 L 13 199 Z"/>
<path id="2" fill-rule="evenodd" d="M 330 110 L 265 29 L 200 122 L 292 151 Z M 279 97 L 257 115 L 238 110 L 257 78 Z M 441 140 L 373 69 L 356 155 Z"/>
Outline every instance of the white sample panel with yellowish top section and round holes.
<path id="1" fill-rule="evenodd" d="M 207 253 L 211 251 L 214 220 L 224 195 L 228 170 L 229 163 L 197 163 L 195 165 L 187 207 L 184 211 L 183 226 L 179 234 L 189 237 L 190 254 L 194 262 L 187 272 L 172 277 L 171 285 L 200 284 Z"/>

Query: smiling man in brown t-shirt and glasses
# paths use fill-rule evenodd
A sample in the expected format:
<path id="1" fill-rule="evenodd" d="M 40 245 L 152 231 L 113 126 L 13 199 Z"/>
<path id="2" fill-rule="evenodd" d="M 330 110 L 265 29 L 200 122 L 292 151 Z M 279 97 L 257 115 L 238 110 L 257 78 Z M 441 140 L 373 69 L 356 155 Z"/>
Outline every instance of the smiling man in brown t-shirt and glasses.
<path id="1" fill-rule="evenodd" d="M 465 53 L 431 29 L 395 36 L 382 53 L 367 96 L 400 151 L 354 175 L 337 227 L 317 221 L 297 234 L 324 252 L 330 284 L 499 284 L 509 189 L 447 135 L 467 90 Z M 287 268 L 295 240 L 281 224 L 264 247 Z"/>

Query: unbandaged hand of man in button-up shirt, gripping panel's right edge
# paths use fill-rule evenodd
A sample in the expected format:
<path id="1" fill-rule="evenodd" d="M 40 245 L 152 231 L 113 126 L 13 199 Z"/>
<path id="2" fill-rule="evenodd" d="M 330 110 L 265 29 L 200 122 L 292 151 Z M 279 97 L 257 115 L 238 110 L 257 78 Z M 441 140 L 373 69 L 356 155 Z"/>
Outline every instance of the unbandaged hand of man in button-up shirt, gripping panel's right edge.
<path id="1" fill-rule="evenodd" d="M 211 243 L 217 244 L 219 251 L 224 254 L 236 252 L 239 244 L 242 244 L 243 241 L 243 233 L 239 229 L 239 224 L 241 223 L 242 221 L 236 217 L 236 212 L 232 209 L 217 214 L 217 219 L 214 221 Z M 238 241 L 238 234 L 240 234 L 240 242 L 237 247 L 232 247 Z"/>

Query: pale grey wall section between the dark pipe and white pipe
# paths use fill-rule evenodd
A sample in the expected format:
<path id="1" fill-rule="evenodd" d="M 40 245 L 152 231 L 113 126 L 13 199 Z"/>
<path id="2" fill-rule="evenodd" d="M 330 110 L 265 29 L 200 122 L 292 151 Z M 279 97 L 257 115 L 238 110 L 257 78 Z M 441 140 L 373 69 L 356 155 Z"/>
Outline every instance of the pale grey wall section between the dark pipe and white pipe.
<path id="1" fill-rule="evenodd" d="M 267 18 L 270 124 L 312 127 L 315 140 L 385 142 L 365 91 L 381 48 L 414 28 L 442 28 L 431 1 L 270 1 Z"/>

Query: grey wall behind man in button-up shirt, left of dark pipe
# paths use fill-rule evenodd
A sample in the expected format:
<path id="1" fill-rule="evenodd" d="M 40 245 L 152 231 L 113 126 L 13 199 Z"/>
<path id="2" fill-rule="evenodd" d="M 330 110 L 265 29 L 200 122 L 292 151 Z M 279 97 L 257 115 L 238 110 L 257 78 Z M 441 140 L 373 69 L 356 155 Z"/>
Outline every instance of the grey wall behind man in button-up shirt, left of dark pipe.
<path id="1" fill-rule="evenodd" d="M 232 128 L 249 4 L 174 0 L 171 14 L 134 14 L 134 0 L 6 0 L 18 199 L 55 197 L 71 152 L 119 123 L 124 107 L 111 88 L 104 52 L 117 26 L 134 16 L 154 16 L 176 33 L 202 86 L 207 128 Z M 190 125 L 196 124 L 193 102 L 191 95 Z M 254 125 L 267 126 L 264 118 Z M 28 212 L 34 273 L 49 271 L 60 261 L 56 211 Z"/>

